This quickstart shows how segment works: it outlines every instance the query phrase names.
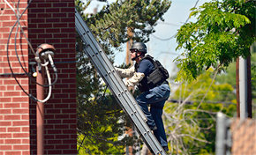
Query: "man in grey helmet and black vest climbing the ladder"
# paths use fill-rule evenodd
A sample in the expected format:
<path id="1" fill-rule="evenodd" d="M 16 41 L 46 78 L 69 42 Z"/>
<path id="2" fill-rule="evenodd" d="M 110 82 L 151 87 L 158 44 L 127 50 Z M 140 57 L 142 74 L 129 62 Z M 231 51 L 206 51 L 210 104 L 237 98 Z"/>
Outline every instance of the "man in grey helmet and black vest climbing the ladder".
<path id="1" fill-rule="evenodd" d="M 165 76 L 162 70 L 157 72 L 161 66 L 157 66 L 158 64 L 154 63 L 153 58 L 146 55 L 147 46 L 144 43 L 133 43 L 130 51 L 132 61 L 136 62 L 135 66 L 130 69 L 116 68 L 116 70 L 121 77 L 131 77 L 125 82 L 126 86 L 139 86 L 139 91 L 142 93 L 136 98 L 136 101 L 147 116 L 147 125 L 154 131 L 154 136 L 164 151 L 169 151 L 162 122 L 162 108 L 169 98 L 169 85 L 166 81 L 169 75 Z M 150 105 L 150 111 L 147 105 Z"/>

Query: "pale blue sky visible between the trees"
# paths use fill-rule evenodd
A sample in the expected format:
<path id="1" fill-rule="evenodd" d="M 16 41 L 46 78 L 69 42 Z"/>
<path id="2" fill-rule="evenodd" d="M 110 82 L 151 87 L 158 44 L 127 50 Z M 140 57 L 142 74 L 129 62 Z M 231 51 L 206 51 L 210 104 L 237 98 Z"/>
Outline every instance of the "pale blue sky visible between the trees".
<path id="1" fill-rule="evenodd" d="M 177 42 L 176 38 L 173 38 L 177 33 L 180 26 L 184 25 L 184 22 L 189 17 L 190 9 L 192 7 L 200 6 L 210 0 L 172 0 L 172 4 L 169 10 L 164 14 L 164 22 L 159 21 L 157 26 L 154 27 L 155 33 L 150 35 L 150 41 L 146 43 L 147 52 L 155 59 L 159 60 L 162 65 L 169 70 L 169 74 L 172 75 L 175 70 L 174 59 L 182 52 L 176 51 Z M 115 2 L 115 0 L 109 0 L 108 3 Z M 98 6 L 98 11 L 106 3 L 93 0 L 87 8 L 87 12 L 93 12 L 94 8 Z M 195 18 L 189 19 L 189 21 L 195 21 Z M 169 39 L 171 38 L 172 39 Z M 169 40 L 168 40 L 169 39 Z M 120 65 L 125 62 L 126 45 L 124 44 L 124 52 L 117 52 L 114 65 Z"/>

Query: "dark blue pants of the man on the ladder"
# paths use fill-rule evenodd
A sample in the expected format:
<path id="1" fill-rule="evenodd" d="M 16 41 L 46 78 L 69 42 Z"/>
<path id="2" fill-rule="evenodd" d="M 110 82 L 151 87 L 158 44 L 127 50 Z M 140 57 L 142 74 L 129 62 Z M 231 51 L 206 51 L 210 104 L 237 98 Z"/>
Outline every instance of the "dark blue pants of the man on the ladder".
<path id="1" fill-rule="evenodd" d="M 136 99 L 139 107 L 147 116 L 147 125 L 149 127 L 156 125 L 157 129 L 154 130 L 154 136 L 162 146 L 168 145 L 162 122 L 162 108 L 168 98 L 169 85 L 163 84 L 141 93 Z M 150 105 L 150 111 L 148 110 L 148 105 Z"/>

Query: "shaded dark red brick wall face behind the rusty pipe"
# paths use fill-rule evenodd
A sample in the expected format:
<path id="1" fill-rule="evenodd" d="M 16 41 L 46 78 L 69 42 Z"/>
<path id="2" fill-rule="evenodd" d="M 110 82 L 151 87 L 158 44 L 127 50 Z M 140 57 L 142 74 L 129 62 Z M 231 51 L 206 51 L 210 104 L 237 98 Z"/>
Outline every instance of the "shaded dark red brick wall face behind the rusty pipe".
<path id="1" fill-rule="evenodd" d="M 28 9 L 28 37 L 34 48 L 41 43 L 56 48 L 54 61 L 58 80 L 51 99 L 45 104 L 45 154 L 77 153 L 74 9 L 73 0 L 37 0 Z M 31 61 L 34 59 L 34 55 L 29 57 Z M 34 87 L 30 87 L 33 93 Z M 36 154 L 35 111 L 31 100 L 30 144 L 33 154 Z"/>

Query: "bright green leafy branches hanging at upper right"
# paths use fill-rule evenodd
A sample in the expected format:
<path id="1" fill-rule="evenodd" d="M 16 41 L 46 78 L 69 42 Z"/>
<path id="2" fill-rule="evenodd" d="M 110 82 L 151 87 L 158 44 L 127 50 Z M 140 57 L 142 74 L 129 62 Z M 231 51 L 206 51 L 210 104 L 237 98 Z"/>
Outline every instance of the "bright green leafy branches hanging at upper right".
<path id="1" fill-rule="evenodd" d="M 250 55 L 255 41 L 255 1 L 213 0 L 192 8 L 196 22 L 181 26 L 177 33 L 177 80 L 192 80 L 210 66 L 228 66 L 237 56 Z"/>

